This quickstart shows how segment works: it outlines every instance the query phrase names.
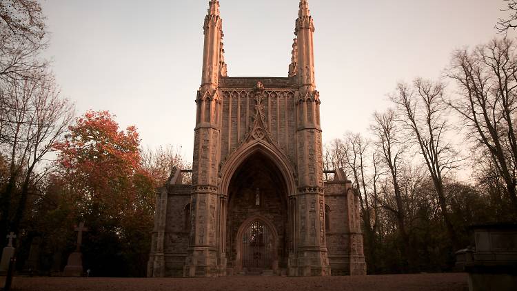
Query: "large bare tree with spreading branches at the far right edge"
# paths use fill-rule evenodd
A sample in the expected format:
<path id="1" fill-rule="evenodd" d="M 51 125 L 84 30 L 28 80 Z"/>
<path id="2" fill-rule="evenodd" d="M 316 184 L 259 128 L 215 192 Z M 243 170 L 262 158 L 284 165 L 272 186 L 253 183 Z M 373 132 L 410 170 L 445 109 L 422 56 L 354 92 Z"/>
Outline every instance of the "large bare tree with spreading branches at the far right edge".
<path id="1" fill-rule="evenodd" d="M 467 137 L 486 148 L 505 192 L 517 210 L 517 107 L 516 46 L 509 39 L 454 52 L 447 75 L 460 91 L 448 101 L 467 128 Z"/>

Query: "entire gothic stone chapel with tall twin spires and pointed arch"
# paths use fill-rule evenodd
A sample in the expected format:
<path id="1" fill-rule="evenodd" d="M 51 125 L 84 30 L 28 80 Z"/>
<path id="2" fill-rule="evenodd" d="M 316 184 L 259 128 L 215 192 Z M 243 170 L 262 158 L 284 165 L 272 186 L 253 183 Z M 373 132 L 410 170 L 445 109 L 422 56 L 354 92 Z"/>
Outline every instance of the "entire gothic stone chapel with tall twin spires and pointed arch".
<path id="1" fill-rule="evenodd" d="M 209 6 L 192 170 L 159 189 L 148 277 L 366 274 L 352 183 L 340 169 L 324 181 L 307 0 L 288 77 L 228 77 Z"/>

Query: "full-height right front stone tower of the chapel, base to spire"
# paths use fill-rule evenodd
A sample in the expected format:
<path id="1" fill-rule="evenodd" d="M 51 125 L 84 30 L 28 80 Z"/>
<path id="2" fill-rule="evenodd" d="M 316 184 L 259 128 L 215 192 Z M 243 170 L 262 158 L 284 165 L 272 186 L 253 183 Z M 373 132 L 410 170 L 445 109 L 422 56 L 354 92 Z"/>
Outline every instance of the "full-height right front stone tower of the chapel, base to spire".
<path id="1" fill-rule="evenodd" d="M 330 275 L 325 243 L 325 186 L 323 184 L 323 146 L 320 126 L 320 101 L 314 83 L 314 24 L 307 0 L 300 1 L 296 19 L 296 166 L 298 193 L 296 229 L 298 270 L 297 276 Z M 299 214 L 298 214 L 299 213 Z M 290 267 L 292 268 L 292 267 Z"/>

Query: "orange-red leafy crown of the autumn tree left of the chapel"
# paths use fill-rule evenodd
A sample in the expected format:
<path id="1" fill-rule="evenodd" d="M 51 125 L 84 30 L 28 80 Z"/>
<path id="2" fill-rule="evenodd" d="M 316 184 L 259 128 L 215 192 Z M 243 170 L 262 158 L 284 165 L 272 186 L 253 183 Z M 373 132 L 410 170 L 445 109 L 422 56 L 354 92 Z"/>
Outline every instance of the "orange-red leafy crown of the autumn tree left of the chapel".
<path id="1" fill-rule="evenodd" d="M 80 214 L 99 214 L 104 219 L 150 214 L 154 185 L 141 169 L 136 128 L 119 130 L 110 112 L 88 111 L 69 129 L 66 140 L 54 148 Z"/>

